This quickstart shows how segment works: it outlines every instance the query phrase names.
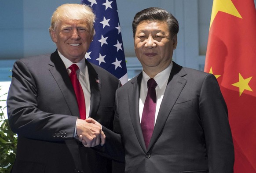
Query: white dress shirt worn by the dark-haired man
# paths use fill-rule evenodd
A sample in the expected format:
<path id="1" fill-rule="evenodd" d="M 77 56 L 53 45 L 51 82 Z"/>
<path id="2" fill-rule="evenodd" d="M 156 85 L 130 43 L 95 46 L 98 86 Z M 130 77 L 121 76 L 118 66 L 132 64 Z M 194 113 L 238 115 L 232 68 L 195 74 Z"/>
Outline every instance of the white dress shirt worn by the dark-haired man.
<path id="1" fill-rule="evenodd" d="M 156 94 L 157 94 L 157 105 L 156 105 L 156 113 L 155 113 L 155 124 L 157 121 L 157 115 L 160 109 L 161 102 L 163 100 L 164 94 L 165 94 L 165 89 L 167 86 L 168 78 L 170 76 L 170 72 L 172 70 L 172 62 L 171 64 L 165 68 L 162 72 L 158 73 L 156 76 L 154 76 L 154 79 L 157 83 L 156 87 Z M 144 108 L 144 103 L 146 100 L 146 95 L 147 95 L 147 81 L 150 79 L 150 76 L 148 76 L 144 71 L 142 81 L 141 81 L 141 86 L 140 86 L 140 96 L 139 96 L 139 119 L 141 122 L 141 117 L 142 117 L 142 112 Z"/>

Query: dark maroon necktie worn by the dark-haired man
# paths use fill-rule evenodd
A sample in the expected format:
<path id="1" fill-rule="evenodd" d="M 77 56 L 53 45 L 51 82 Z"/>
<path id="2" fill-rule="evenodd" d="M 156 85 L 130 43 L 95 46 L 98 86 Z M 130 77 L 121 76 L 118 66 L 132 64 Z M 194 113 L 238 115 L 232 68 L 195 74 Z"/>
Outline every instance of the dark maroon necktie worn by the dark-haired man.
<path id="1" fill-rule="evenodd" d="M 154 130 L 155 124 L 155 112 L 157 104 L 157 95 L 156 95 L 156 81 L 151 78 L 147 81 L 147 96 L 144 103 L 142 118 L 141 118 L 141 129 L 146 144 L 146 148 L 150 143 L 150 139 Z"/>

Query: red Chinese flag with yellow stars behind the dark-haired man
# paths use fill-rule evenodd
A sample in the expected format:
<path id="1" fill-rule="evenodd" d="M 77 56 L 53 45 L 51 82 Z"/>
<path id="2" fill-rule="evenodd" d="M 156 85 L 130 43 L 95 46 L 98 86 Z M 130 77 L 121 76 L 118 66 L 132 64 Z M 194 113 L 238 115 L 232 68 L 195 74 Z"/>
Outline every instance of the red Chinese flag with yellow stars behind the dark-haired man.
<path id="1" fill-rule="evenodd" d="M 234 173 L 256 173 L 256 9 L 253 0 L 213 0 L 205 72 L 227 103 Z"/>

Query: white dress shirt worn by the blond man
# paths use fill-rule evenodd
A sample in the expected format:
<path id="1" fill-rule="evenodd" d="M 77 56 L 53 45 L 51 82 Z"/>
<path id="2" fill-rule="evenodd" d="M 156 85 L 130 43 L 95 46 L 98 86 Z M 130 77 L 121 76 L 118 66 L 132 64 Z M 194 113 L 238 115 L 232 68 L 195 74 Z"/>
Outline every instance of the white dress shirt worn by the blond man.
<path id="1" fill-rule="evenodd" d="M 74 64 L 65 58 L 58 50 L 59 56 L 64 62 L 68 73 L 70 74 L 71 70 L 69 69 L 70 65 Z M 84 100 L 85 100 L 85 108 L 86 108 L 86 118 L 89 117 L 90 106 L 91 106 L 91 88 L 88 74 L 88 67 L 85 63 L 85 59 L 83 58 L 81 61 L 77 62 L 76 65 L 79 67 L 77 70 L 77 78 L 82 86 L 84 92 Z"/>

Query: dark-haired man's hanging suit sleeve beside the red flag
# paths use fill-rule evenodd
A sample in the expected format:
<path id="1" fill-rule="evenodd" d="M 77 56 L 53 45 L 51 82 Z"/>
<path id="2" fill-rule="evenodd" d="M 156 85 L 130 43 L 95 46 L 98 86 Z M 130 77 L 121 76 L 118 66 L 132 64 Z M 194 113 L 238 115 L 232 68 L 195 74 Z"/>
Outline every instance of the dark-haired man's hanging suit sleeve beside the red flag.
<path id="1" fill-rule="evenodd" d="M 227 106 L 213 75 L 207 75 L 202 83 L 199 108 L 209 173 L 233 173 L 234 146 Z"/>

